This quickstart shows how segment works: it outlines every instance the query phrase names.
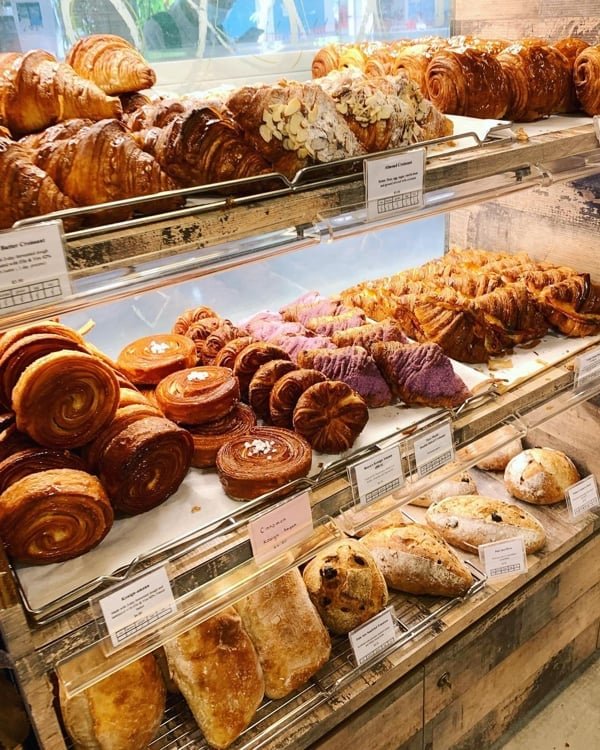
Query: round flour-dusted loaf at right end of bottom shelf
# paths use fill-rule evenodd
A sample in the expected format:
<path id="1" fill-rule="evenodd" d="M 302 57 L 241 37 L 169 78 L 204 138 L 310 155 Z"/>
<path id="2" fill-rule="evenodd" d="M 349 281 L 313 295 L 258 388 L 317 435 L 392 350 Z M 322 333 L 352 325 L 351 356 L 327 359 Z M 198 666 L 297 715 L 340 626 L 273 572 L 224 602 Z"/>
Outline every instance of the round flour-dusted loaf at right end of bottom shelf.
<path id="1" fill-rule="evenodd" d="M 510 460 L 504 472 L 513 497 L 536 505 L 565 499 L 565 490 L 581 477 L 571 459 L 553 448 L 528 448 Z"/>

